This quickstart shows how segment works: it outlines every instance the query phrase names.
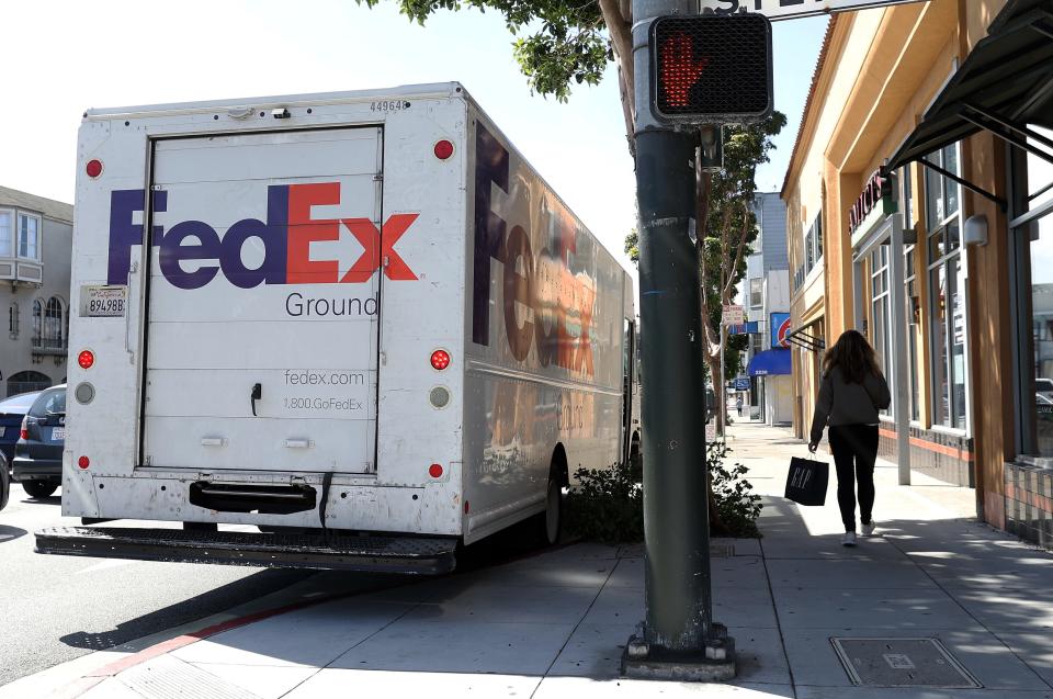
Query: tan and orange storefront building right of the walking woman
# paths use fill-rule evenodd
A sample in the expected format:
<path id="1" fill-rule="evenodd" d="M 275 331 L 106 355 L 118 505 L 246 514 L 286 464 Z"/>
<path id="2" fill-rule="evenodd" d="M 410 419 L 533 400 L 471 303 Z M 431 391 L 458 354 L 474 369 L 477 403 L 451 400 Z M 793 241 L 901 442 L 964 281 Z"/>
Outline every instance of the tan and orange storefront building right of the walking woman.
<path id="1" fill-rule="evenodd" d="M 782 195 L 795 432 L 823 347 L 859 329 L 901 482 L 974 487 L 983 519 L 1053 542 L 1053 5 L 837 15 Z"/>

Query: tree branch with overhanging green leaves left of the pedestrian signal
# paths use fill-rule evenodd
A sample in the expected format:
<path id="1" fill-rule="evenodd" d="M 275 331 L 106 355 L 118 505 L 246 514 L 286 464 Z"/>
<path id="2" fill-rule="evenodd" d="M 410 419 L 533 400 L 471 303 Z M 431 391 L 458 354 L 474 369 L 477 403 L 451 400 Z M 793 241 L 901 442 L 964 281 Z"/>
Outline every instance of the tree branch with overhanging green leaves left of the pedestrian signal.
<path id="1" fill-rule="evenodd" d="M 381 0 L 355 0 L 376 7 Z M 566 102 L 575 83 L 598 84 L 609 61 L 618 64 L 629 149 L 635 156 L 631 0 L 395 0 L 423 25 L 438 10 L 496 10 L 516 36 L 513 55 L 530 87 Z M 540 26 L 524 33 L 526 26 Z"/>

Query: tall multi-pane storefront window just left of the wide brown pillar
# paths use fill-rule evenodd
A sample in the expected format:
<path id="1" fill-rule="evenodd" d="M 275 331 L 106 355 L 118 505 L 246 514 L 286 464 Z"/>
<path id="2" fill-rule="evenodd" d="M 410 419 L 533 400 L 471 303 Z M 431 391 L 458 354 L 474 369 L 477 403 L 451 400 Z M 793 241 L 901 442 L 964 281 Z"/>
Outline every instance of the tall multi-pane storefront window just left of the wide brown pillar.
<path id="1" fill-rule="evenodd" d="M 926 157 L 958 174 L 958 144 Z M 965 300 L 961 293 L 959 185 L 925 169 L 925 219 L 931 318 L 932 424 L 965 429 Z"/>

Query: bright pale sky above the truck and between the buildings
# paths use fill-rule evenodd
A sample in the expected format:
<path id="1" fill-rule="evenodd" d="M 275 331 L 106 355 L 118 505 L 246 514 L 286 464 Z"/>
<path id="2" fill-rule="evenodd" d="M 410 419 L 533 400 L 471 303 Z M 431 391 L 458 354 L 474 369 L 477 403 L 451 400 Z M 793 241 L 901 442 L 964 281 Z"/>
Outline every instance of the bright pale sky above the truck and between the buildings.
<path id="1" fill-rule="evenodd" d="M 441 12 L 421 27 L 394 2 L 8 0 L 0 43 L 0 184 L 72 203 L 86 109 L 462 82 L 603 245 L 636 225 L 618 80 L 569 102 L 532 95 L 495 12 Z M 825 18 L 773 24 L 775 109 L 789 124 L 760 191 L 779 191 Z M 634 270 L 633 270 L 634 271 Z"/>

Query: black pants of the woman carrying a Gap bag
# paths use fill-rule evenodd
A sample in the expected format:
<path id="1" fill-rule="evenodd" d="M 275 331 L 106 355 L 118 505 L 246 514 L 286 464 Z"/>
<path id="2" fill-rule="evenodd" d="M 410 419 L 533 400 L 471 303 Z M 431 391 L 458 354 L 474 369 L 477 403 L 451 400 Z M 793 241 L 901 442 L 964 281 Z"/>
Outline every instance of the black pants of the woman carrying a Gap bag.
<path id="1" fill-rule="evenodd" d="M 859 516 L 870 522 L 874 509 L 874 461 L 878 459 L 876 425 L 830 426 L 830 452 L 837 469 L 837 506 L 845 531 L 856 531 L 856 483 L 859 483 Z"/>

